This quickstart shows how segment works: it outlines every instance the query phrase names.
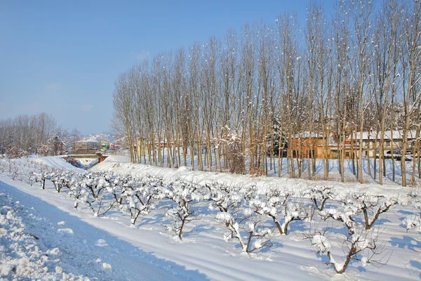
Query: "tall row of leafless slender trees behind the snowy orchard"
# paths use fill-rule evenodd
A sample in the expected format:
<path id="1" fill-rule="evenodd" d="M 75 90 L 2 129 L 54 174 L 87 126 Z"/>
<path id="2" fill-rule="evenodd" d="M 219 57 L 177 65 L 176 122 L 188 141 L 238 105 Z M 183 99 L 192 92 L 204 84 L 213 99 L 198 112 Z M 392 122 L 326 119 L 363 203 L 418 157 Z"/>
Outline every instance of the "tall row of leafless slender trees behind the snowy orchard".
<path id="1" fill-rule="evenodd" d="M 339 0 L 330 18 L 312 4 L 304 28 L 284 13 L 135 65 L 115 83 L 114 129 L 133 162 L 281 176 L 286 159 L 291 177 L 308 178 L 321 136 L 323 179 L 336 145 L 341 180 L 351 149 L 360 183 L 370 158 L 358 143 L 373 131 L 379 159 L 368 174 L 380 184 L 385 131 L 400 130 L 406 185 L 408 150 L 412 179 L 421 176 L 421 2 L 378 4 Z"/>

